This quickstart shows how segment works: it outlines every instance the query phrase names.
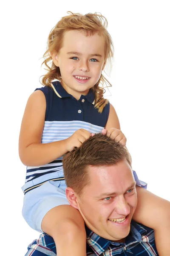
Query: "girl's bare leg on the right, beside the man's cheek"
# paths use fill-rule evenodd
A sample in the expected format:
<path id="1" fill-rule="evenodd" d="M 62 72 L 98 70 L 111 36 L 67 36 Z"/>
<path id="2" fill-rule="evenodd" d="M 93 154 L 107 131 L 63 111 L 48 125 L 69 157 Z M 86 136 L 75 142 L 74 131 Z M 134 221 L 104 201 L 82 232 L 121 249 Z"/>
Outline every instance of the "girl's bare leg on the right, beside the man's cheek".
<path id="1" fill-rule="evenodd" d="M 159 256 L 170 255 L 170 202 L 136 186 L 138 204 L 133 219 L 154 230 Z"/>

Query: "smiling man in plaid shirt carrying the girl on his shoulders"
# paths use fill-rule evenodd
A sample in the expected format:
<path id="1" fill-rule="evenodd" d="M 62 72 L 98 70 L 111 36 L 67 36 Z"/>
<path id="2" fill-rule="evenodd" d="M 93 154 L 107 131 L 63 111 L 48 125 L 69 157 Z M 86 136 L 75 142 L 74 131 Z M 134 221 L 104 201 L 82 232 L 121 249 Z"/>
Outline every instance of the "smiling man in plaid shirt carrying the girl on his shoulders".
<path id="1" fill-rule="evenodd" d="M 158 255 L 153 230 L 132 221 L 136 182 L 125 147 L 96 134 L 66 154 L 63 167 L 68 201 L 86 224 L 88 256 Z M 26 256 L 56 256 L 54 240 L 46 234 L 28 248 Z"/>

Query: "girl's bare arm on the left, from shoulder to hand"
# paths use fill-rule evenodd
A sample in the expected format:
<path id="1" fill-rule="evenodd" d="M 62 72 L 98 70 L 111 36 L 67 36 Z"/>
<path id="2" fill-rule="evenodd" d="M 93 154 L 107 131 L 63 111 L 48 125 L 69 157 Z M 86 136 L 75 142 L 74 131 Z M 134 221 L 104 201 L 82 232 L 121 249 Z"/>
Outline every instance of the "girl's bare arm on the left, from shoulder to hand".
<path id="1" fill-rule="evenodd" d="M 91 134 L 77 130 L 68 139 L 41 143 L 45 123 L 46 100 L 41 90 L 34 91 L 28 99 L 20 129 L 19 155 L 26 166 L 41 166 L 79 147 Z"/>

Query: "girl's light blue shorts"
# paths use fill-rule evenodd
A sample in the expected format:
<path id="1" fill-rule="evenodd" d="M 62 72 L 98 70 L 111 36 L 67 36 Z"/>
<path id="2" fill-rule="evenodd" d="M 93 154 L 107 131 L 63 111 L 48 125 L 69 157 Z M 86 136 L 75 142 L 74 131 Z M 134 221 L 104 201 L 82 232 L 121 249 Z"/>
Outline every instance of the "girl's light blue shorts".
<path id="1" fill-rule="evenodd" d="M 63 176 L 63 170 L 56 172 L 56 177 Z M 147 188 L 147 183 L 140 181 L 135 171 L 133 176 L 137 185 Z M 56 206 L 69 204 L 65 195 L 66 187 L 65 180 L 49 180 L 26 193 L 22 214 L 31 228 L 42 233 L 41 223 L 45 214 Z"/>

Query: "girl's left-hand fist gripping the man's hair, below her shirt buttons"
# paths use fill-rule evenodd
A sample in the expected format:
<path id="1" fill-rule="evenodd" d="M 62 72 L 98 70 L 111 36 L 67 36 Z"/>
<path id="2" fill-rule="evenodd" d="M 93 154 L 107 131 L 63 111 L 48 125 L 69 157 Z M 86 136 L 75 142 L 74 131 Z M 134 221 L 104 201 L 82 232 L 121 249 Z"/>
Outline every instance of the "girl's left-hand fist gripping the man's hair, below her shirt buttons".
<path id="1" fill-rule="evenodd" d="M 79 148 L 85 140 L 93 136 L 89 131 L 85 129 L 79 129 L 74 132 L 73 135 L 65 140 L 67 151 L 72 151 L 75 148 Z"/>

